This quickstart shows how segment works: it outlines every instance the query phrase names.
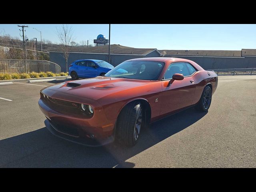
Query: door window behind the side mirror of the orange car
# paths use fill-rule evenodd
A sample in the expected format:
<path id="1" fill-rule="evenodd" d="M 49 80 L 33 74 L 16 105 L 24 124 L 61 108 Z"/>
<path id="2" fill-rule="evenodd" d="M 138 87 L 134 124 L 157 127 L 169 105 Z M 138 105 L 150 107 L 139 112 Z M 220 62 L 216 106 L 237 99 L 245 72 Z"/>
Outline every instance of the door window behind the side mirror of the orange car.
<path id="1" fill-rule="evenodd" d="M 164 74 L 164 79 L 171 79 L 172 76 L 176 73 L 182 74 L 184 76 L 189 76 L 190 72 L 188 71 L 188 68 L 186 65 L 187 63 L 183 63 L 183 62 L 170 64 L 170 66 L 168 67 L 168 69 Z"/>

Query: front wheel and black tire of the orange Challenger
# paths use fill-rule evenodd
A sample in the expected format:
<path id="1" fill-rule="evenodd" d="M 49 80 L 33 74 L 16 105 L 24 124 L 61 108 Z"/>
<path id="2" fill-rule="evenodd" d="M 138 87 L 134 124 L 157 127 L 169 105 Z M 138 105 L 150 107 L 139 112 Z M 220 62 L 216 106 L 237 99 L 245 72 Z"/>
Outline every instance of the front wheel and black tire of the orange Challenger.
<path id="1" fill-rule="evenodd" d="M 120 112 L 116 126 L 117 141 L 125 146 L 134 146 L 139 138 L 144 116 L 140 102 L 129 103 Z"/>

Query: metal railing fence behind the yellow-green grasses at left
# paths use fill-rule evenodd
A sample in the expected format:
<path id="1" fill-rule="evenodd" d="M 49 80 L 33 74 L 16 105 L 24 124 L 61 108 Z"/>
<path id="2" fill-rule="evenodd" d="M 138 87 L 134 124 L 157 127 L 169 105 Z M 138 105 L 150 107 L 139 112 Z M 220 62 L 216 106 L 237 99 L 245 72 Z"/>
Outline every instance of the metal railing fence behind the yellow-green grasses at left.
<path id="1" fill-rule="evenodd" d="M 30 73 L 33 71 L 60 73 L 61 67 L 56 63 L 45 60 L 0 59 L 0 73 Z"/>

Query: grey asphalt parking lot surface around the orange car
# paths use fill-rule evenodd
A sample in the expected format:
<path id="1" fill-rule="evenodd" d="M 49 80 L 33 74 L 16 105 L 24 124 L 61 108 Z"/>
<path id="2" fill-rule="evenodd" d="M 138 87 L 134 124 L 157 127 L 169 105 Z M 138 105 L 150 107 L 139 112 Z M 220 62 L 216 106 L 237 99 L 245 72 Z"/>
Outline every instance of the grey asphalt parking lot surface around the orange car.
<path id="1" fill-rule="evenodd" d="M 256 76 L 219 76 L 208 112 L 190 108 L 140 134 L 138 144 L 86 147 L 52 135 L 39 91 L 59 81 L 0 86 L 0 167 L 256 167 Z"/>

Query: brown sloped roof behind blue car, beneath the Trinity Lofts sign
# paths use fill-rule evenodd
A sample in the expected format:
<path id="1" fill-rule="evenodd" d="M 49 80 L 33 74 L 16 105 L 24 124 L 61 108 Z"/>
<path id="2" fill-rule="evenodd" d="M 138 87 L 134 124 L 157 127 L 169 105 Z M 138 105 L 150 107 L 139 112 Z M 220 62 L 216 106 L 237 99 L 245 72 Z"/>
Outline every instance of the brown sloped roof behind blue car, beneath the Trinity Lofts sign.
<path id="1" fill-rule="evenodd" d="M 154 48 L 133 48 L 122 45 L 110 45 L 111 54 L 140 54 L 146 55 L 156 49 Z M 97 47 L 73 47 L 71 52 L 84 52 L 84 53 L 108 53 L 108 45 Z"/>

